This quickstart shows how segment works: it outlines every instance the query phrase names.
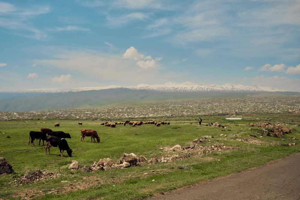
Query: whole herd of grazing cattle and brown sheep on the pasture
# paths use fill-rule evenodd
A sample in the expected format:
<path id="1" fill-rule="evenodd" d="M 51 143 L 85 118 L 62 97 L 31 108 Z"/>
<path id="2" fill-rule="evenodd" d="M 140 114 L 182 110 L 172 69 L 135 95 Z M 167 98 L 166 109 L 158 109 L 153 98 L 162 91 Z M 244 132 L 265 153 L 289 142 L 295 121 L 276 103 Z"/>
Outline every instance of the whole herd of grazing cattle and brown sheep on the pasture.
<path id="1" fill-rule="evenodd" d="M 78 122 L 79 125 L 82 125 L 82 122 Z M 164 121 L 125 121 L 123 122 L 106 122 L 102 123 L 101 125 L 108 126 L 108 127 L 116 127 L 116 124 L 126 124 L 131 125 L 132 127 L 139 126 L 142 124 L 155 124 L 157 127 L 159 127 L 161 124 L 170 124 L 170 122 L 164 122 Z M 59 123 L 55 123 L 54 127 L 59 127 Z M 47 136 L 48 135 L 48 136 Z M 91 142 L 95 141 L 95 138 L 97 139 L 97 142 L 100 142 L 100 137 L 98 136 L 97 132 L 95 130 L 91 129 L 81 129 L 81 137 L 80 141 L 83 140 L 85 136 L 91 137 Z M 63 131 L 52 131 L 49 128 L 41 128 L 41 132 L 39 131 L 30 131 L 29 133 L 29 142 L 28 145 L 31 141 L 31 146 L 34 145 L 34 140 L 39 139 L 39 145 L 41 144 L 41 140 L 43 140 L 43 145 L 44 141 L 46 141 L 46 147 L 45 147 L 45 154 L 47 154 L 47 149 L 50 154 L 50 148 L 53 147 L 58 147 L 60 151 L 60 155 L 62 157 L 62 153 L 64 151 L 67 151 L 67 154 L 72 157 L 72 149 L 70 149 L 67 141 L 65 138 L 71 138 L 69 133 L 64 133 Z"/>

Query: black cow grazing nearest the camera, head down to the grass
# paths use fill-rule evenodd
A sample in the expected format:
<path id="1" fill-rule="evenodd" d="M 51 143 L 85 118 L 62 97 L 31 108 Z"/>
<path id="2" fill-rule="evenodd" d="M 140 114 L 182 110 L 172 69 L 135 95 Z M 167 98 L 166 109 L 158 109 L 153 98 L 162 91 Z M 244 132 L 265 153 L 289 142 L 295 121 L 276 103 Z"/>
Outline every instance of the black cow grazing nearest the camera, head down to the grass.
<path id="1" fill-rule="evenodd" d="M 46 147 L 45 147 L 45 154 L 47 154 L 47 148 L 50 154 L 50 148 L 53 147 L 58 147 L 60 151 L 61 157 L 63 157 L 62 153 L 64 153 L 64 150 L 67 151 L 67 154 L 72 157 L 72 149 L 70 149 L 67 140 L 64 138 L 59 138 L 55 136 L 47 136 L 46 138 Z"/>

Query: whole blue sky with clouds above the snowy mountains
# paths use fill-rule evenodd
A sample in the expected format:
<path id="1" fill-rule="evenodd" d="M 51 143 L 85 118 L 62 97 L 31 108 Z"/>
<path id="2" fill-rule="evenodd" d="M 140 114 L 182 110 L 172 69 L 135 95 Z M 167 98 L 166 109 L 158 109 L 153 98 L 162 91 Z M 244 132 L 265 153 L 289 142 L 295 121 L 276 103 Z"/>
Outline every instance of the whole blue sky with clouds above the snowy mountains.
<path id="1" fill-rule="evenodd" d="M 0 0 L 0 91 L 183 83 L 300 92 L 298 0 Z"/>

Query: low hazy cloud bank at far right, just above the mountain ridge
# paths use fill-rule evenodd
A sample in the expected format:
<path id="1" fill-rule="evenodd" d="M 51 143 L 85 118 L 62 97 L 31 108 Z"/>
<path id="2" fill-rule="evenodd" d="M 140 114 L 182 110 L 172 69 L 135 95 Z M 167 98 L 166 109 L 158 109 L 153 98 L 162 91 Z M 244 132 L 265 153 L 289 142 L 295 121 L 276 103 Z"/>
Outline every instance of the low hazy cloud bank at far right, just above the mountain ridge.
<path id="1" fill-rule="evenodd" d="M 263 85 L 270 88 L 283 89 L 285 91 L 300 92 L 300 79 L 290 79 L 285 76 L 256 76 L 252 79 L 252 85 Z"/>

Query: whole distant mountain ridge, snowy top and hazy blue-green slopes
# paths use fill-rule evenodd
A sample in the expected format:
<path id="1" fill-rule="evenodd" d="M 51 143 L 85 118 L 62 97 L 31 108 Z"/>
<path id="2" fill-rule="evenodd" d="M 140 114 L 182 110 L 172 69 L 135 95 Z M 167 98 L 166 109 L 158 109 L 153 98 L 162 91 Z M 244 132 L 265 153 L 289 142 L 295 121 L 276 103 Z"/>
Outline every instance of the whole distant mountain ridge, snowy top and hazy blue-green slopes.
<path id="1" fill-rule="evenodd" d="M 110 85 L 73 89 L 34 89 L 0 92 L 0 111 L 45 111 L 69 108 L 96 108 L 126 103 L 135 105 L 147 101 L 186 100 L 211 97 L 246 96 L 262 93 L 300 94 L 274 88 L 245 85 L 140 84 L 134 87 Z"/>

